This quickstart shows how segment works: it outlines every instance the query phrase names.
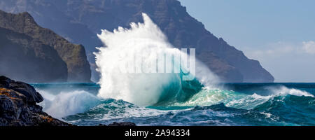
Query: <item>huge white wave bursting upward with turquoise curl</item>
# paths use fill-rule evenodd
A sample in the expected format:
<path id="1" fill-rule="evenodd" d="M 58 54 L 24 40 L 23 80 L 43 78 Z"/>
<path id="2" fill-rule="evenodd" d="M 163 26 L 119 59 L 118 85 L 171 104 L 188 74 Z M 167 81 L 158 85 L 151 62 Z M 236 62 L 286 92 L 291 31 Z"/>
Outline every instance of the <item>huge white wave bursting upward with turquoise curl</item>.
<path id="1" fill-rule="evenodd" d="M 138 106 L 158 104 L 165 99 L 183 102 L 202 86 L 218 81 L 206 66 L 174 48 L 148 15 L 143 13 L 143 18 L 144 23 L 130 23 L 130 29 L 118 27 L 98 34 L 106 46 L 94 52 L 97 71 L 101 73 L 98 97 L 123 99 Z M 172 59 L 162 61 L 162 71 L 172 66 L 173 71 L 156 72 L 161 70 L 157 67 L 161 63 L 156 63 L 158 58 L 172 55 Z M 189 64 L 183 61 L 186 59 L 190 59 Z"/>

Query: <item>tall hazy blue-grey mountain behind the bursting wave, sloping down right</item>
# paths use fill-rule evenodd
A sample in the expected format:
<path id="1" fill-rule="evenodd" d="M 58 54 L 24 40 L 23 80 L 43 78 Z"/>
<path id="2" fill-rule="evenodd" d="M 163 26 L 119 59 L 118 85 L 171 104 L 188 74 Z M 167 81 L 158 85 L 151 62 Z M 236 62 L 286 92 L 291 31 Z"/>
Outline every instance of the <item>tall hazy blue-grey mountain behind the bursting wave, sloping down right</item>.
<path id="1" fill-rule="evenodd" d="M 0 8 L 10 12 L 28 11 L 44 27 L 56 29 L 75 43 L 87 46 L 88 57 L 97 45 L 100 29 L 113 30 L 129 27 L 130 22 L 141 22 L 147 13 L 167 35 L 176 48 L 196 48 L 197 58 L 207 64 L 225 82 L 273 82 L 273 76 L 258 61 L 248 59 L 243 52 L 207 31 L 201 22 L 192 18 L 177 0 L 4 0 Z M 52 15 L 52 16 L 45 16 Z M 56 20 L 58 19 L 58 20 Z M 62 22 L 58 22 L 62 20 Z M 44 21 L 51 21 L 50 23 Z M 55 23 L 55 24 L 52 24 Z M 70 26 L 69 24 L 76 24 Z M 81 34 L 61 31 L 69 27 Z M 78 38 L 84 38 L 80 40 Z M 91 43 L 90 38 L 93 42 Z"/>

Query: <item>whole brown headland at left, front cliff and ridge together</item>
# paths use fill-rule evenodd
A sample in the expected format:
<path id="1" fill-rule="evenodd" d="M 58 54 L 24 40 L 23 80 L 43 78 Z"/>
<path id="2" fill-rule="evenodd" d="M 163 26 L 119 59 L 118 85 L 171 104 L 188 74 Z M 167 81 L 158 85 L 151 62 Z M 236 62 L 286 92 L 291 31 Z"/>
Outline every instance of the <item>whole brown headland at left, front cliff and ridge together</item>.
<path id="1" fill-rule="evenodd" d="M 29 65 L 23 66 L 22 71 L 13 73 L 13 71 L 1 69 L 0 74 L 35 83 L 90 82 L 90 64 L 87 62 L 83 45 L 70 43 L 50 29 L 38 26 L 29 13 L 11 14 L 0 10 L 0 28 L 1 39 L 6 40 L 1 41 L 0 44 L 2 66 L 29 63 Z M 28 55 L 28 57 L 18 55 L 20 57 L 18 59 L 12 55 L 6 55 L 10 53 L 21 53 L 22 56 Z M 30 57 L 36 59 L 29 59 Z M 38 58 L 44 60 L 39 61 Z M 64 68 L 64 64 L 66 68 Z M 29 73 L 34 73 L 34 76 Z M 43 74 L 36 76 L 38 73 Z"/>

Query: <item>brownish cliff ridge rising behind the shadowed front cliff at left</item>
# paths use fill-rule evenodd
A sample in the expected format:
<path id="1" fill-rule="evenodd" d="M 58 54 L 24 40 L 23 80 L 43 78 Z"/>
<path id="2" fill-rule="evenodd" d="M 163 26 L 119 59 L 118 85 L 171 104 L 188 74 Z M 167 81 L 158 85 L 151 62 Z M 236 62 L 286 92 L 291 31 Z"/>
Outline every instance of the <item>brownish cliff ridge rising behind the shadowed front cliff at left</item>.
<path id="1" fill-rule="evenodd" d="M 68 81 L 90 82 L 90 64 L 87 62 L 83 45 L 69 43 L 50 29 L 39 27 L 29 13 L 15 15 L 0 11 L 0 19 L 0 27 L 25 34 L 55 49 L 59 57 L 66 62 Z M 45 52 L 42 54 L 45 55 Z M 50 71 L 58 69 L 59 67 L 55 67 Z"/>

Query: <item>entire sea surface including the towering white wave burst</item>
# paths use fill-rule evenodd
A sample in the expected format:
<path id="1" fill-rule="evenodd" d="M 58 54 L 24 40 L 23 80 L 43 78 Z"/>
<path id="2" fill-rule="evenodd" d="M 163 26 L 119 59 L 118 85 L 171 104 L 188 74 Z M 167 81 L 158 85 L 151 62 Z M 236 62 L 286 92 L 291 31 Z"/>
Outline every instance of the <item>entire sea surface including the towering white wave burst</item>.
<path id="1" fill-rule="evenodd" d="M 43 110 L 75 125 L 315 125 L 314 83 L 221 83 L 143 19 L 98 34 L 98 83 L 33 84 Z"/>

